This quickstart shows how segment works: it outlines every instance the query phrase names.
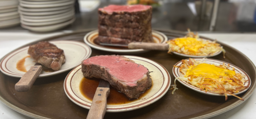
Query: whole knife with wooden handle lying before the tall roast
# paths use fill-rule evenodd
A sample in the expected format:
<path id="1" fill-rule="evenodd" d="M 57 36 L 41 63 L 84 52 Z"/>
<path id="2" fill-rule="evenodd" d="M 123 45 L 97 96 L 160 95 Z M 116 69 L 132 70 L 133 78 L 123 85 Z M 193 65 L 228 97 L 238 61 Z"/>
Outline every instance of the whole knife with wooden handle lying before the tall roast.
<path id="1" fill-rule="evenodd" d="M 129 49 L 144 49 L 144 50 L 159 50 L 159 51 L 167 51 L 169 49 L 168 43 L 153 43 L 153 42 L 131 42 L 129 44 L 100 43 L 100 45 L 128 46 Z"/>

